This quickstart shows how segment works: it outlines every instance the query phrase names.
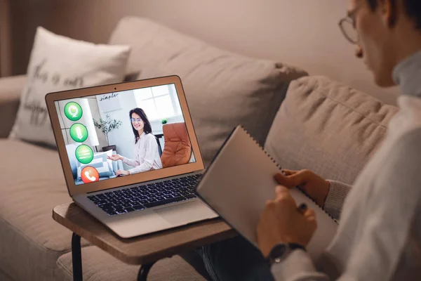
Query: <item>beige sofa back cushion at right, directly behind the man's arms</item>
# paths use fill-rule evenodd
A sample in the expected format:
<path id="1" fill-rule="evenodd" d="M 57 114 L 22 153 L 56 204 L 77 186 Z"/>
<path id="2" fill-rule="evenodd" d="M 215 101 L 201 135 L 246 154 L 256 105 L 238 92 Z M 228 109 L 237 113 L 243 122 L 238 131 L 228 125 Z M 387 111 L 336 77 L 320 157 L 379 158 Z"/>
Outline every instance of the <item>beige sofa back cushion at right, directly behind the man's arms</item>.
<path id="1" fill-rule="evenodd" d="M 326 77 L 290 84 L 265 149 L 286 169 L 352 184 L 398 111 Z"/>

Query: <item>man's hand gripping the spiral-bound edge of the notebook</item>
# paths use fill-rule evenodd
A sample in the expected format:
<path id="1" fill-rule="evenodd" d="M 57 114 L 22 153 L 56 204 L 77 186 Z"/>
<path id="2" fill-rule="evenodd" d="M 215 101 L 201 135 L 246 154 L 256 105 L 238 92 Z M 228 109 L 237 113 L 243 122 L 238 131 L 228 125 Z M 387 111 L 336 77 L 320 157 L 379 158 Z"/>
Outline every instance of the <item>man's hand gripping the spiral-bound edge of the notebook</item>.
<path id="1" fill-rule="evenodd" d="M 276 181 L 280 185 L 284 185 L 287 188 L 300 185 L 300 188 L 307 192 L 320 207 L 324 206 L 330 188 L 329 181 L 309 170 L 291 171 L 283 169 L 283 171 L 286 176 L 283 174 L 276 174 L 275 176 Z"/>

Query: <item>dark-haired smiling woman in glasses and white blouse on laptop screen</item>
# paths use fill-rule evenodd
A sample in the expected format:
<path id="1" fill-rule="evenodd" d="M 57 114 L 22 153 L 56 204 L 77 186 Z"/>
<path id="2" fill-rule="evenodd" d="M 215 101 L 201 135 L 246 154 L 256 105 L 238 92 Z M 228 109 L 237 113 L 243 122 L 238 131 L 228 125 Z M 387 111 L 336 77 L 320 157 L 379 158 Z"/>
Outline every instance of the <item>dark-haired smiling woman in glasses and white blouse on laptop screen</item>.
<path id="1" fill-rule="evenodd" d="M 145 112 L 136 107 L 129 112 L 133 133 L 135 135 L 134 153 L 135 159 L 128 159 L 121 155 L 107 156 L 113 161 L 122 160 L 123 163 L 133 166 L 130 170 L 118 170 L 116 176 L 127 176 L 131 174 L 141 173 L 143 171 L 151 171 L 162 169 L 161 158 L 158 152 L 158 143 L 152 134 L 151 123 L 147 119 Z"/>

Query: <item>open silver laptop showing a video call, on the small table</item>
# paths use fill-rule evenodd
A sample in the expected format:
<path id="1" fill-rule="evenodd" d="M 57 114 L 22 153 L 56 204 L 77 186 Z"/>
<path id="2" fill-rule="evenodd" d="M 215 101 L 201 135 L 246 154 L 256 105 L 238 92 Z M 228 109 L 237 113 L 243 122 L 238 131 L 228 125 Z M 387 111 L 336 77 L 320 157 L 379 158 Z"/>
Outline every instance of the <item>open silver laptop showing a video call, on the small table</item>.
<path id="1" fill-rule="evenodd" d="M 72 200 L 123 238 L 218 217 L 178 76 L 46 95 Z M 168 147 L 167 147 L 168 146 Z"/>

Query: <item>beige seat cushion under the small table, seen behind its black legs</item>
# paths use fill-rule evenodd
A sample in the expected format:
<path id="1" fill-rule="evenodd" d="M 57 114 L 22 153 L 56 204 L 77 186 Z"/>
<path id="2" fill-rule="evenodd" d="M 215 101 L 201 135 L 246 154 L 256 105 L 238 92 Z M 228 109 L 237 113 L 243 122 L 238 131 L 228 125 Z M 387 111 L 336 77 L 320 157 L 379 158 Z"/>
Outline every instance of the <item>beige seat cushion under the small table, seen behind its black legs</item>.
<path id="1" fill-rule="evenodd" d="M 58 280 L 73 280 L 72 253 L 60 256 L 57 261 Z M 90 281 L 135 281 L 138 280 L 140 266 L 131 266 L 114 259 L 98 247 L 82 249 L 83 280 Z M 152 267 L 148 281 L 203 281 L 201 275 L 186 263 L 180 256 L 161 259 Z"/>

